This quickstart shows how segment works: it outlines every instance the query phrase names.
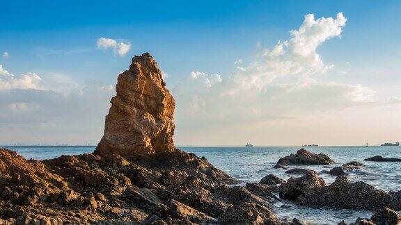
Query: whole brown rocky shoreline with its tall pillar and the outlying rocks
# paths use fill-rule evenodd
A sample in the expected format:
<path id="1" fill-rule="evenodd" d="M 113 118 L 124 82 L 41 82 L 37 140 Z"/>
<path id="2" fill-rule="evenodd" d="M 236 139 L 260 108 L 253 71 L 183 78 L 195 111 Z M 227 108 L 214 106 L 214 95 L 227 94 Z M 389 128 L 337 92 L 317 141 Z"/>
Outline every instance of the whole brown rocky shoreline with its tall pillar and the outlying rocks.
<path id="1" fill-rule="evenodd" d="M 283 199 L 375 212 L 355 224 L 401 222 L 400 191 L 348 181 L 359 162 L 331 169 L 337 178 L 330 185 L 307 169 L 287 170 L 303 175 L 288 181 L 268 174 L 237 185 L 206 158 L 175 148 L 175 101 L 148 53 L 132 59 L 116 90 L 94 153 L 26 160 L 0 149 L 0 224 L 303 224 L 276 216 L 272 204 Z M 333 163 L 300 149 L 275 168 Z"/>

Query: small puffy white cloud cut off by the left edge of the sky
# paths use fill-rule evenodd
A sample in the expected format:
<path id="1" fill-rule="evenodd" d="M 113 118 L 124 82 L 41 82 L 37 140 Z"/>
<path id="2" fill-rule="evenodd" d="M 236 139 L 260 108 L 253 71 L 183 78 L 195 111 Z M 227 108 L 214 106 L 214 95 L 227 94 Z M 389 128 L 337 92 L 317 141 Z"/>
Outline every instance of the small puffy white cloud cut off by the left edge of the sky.
<path id="1" fill-rule="evenodd" d="M 41 79 L 38 74 L 31 72 L 14 76 L 0 65 L 0 90 L 36 89 Z"/>

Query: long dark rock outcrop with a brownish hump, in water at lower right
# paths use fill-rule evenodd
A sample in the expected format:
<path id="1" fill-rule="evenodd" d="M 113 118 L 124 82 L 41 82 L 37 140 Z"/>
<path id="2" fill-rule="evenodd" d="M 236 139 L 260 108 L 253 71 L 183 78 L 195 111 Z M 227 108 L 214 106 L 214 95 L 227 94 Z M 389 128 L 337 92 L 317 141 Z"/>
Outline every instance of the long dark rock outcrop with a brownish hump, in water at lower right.
<path id="1" fill-rule="evenodd" d="M 378 190 L 364 182 L 349 183 L 347 176 L 338 176 L 326 185 L 316 174 L 290 178 L 280 186 L 280 197 L 306 206 L 324 206 L 347 209 L 392 208 L 400 210 L 396 194 Z"/>

